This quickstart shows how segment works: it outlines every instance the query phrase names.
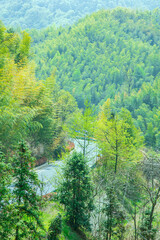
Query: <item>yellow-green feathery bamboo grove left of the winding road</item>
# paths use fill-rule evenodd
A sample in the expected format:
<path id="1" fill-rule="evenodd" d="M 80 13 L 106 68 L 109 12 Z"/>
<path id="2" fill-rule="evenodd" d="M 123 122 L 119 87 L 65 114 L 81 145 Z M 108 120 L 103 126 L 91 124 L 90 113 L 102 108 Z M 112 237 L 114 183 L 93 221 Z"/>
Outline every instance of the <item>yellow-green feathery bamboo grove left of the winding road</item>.
<path id="1" fill-rule="evenodd" d="M 62 125 L 77 104 L 54 75 L 36 80 L 30 41 L 26 32 L 18 35 L 0 23 L 0 146 L 7 153 L 23 138 L 35 156 L 49 157 L 61 152 Z"/>

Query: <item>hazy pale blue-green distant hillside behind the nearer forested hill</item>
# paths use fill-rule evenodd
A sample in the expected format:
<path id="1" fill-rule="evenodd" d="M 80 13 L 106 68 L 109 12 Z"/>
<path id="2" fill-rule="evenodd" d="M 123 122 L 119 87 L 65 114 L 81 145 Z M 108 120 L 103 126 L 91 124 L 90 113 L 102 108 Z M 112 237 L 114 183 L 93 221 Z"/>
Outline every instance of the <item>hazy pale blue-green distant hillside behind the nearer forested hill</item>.
<path id="1" fill-rule="evenodd" d="M 73 24 L 86 14 L 117 6 L 152 10 L 159 0 L 1 0 L 0 19 L 8 26 L 44 28 Z"/>

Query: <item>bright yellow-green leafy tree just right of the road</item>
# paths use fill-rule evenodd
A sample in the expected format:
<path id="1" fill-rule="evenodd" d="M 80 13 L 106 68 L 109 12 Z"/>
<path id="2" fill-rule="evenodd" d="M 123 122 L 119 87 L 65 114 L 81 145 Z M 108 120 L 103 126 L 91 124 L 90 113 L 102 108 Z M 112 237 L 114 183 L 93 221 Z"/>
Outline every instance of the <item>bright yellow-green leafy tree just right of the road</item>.
<path id="1" fill-rule="evenodd" d="M 135 128 L 129 111 L 122 109 L 120 113 L 111 111 L 110 99 L 103 105 L 99 113 L 96 139 L 103 154 L 103 164 L 117 173 L 125 165 L 134 165 L 141 158 L 139 148 L 143 138 Z"/>

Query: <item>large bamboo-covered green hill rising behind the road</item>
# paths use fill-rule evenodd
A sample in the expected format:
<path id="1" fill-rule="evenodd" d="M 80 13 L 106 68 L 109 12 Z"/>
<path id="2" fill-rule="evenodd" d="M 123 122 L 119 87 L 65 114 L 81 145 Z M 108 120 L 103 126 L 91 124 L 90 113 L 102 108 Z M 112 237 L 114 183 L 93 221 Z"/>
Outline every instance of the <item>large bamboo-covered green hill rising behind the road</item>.
<path id="1" fill-rule="evenodd" d="M 57 83 L 84 108 L 112 99 L 114 110 L 127 108 L 159 148 L 160 11 L 117 8 L 87 16 L 66 28 L 31 31 L 36 75 L 56 71 Z"/>

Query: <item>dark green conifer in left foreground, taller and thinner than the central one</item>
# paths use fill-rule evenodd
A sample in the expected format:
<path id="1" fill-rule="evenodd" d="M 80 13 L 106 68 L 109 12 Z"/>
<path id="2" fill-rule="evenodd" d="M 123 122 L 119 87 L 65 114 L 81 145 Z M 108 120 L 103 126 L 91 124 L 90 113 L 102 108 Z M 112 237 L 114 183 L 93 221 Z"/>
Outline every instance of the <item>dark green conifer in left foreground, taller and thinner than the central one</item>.
<path id="1" fill-rule="evenodd" d="M 19 144 L 17 154 L 13 158 L 13 176 L 15 178 L 15 240 L 40 239 L 40 197 L 36 193 L 39 185 L 37 174 L 33 171 L 34 158 L 31 157 L 26 144 Z"/>

